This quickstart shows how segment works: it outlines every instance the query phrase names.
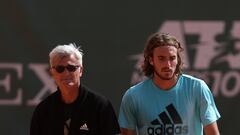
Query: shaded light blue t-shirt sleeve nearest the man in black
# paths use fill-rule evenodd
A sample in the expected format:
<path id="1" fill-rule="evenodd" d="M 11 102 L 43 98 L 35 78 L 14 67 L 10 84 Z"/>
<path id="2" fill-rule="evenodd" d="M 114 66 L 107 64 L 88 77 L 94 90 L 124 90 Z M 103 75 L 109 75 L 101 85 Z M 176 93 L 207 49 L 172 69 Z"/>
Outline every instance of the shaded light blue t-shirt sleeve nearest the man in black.
<path id="1" fill-rule="evenodd" d="M 119 124 L 121 128 L 135 129 L 137 126 L 135 110 L 133 99 L 129 91 L 127 91 L 122 98 L 119 111 Z"/>

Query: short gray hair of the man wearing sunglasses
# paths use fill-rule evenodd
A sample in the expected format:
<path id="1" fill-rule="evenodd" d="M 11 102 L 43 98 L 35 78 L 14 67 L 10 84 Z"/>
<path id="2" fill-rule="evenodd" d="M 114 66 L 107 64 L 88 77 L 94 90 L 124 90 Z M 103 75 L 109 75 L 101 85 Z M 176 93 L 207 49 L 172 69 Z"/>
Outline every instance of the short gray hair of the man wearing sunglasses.
<path id="1" fill-rule="evenodd" d="M 74 54 L 75 57 L 79 60 L 80 66 L 82 66 L 82 56 L 83 52 L 80 49 L 80 46 L 77 47 L 75 43 L 70 43 L 68 45 L 58 45 L 49 53 L 49 62 L 52 66 L 54 58 L 62 58 L 64 56 L 70 56 Z"/>

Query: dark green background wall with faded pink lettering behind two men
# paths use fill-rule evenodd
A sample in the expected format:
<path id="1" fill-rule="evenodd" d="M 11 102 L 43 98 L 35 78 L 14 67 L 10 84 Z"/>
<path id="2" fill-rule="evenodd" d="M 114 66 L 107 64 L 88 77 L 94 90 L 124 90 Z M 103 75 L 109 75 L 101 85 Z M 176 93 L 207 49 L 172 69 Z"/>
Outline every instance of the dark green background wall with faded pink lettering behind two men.
<path id="1" fill-rule="evenodd" d="M 84 50 L 82 82 L 118 113 L 149 34 L 174 33 L 186 72 L 213 90 L 222 135 L 239 134 L 240 2 L 237 0 L 1 0 L 0 134 L 29 134 L 35 105 L 54 91 L 48 53 L 75 42 Z M 202 62 L 203 61 L 203 62 Z M 139 80 L 138 80 L 139 79 Z"/>

